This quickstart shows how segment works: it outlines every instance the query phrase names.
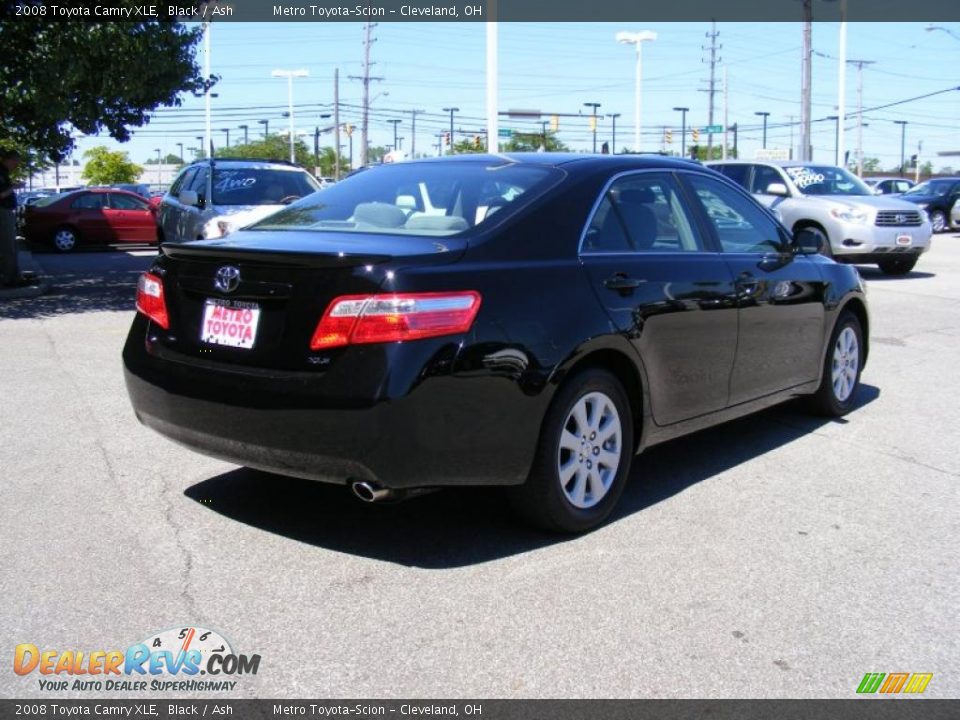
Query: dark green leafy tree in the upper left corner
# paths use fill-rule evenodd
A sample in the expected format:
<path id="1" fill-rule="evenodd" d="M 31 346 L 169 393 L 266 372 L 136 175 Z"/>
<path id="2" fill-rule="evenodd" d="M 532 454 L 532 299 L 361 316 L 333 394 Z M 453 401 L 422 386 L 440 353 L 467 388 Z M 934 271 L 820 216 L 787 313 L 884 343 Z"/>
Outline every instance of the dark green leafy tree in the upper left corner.
<path id="1" fill-rule="evenodd" d="M 199 23 L 160 19 L 174 3 L 158 0 L 158 19 L 141 22 L 55 21 L 54 2 L 31 4 L 45 14 L 14 17 L 16 4 L 0 5 L 0 136 L 42 156 L 63 159 L 73 130 L 128 140 L 156 108 L 215 80 L 205 81 L 195 60 Z"/>

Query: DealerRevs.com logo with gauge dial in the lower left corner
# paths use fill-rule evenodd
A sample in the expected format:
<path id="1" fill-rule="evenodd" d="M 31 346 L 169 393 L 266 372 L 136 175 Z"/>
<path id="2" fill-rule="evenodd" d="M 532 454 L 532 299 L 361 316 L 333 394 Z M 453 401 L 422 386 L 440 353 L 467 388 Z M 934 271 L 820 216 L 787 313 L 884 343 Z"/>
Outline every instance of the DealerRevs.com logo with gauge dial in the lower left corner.
<path id="1" fill-rule="evenodd" d="M 256 675 L 259 669 L 259 655 L 236 653 L 223 635 L 200 627 L 164 630 L 126 650 L 41 649 L 21 643 L 13 654 L 13 671 L 39 676 L 43 691 L 230 691 L 239 683 L 234 678 Z"/>

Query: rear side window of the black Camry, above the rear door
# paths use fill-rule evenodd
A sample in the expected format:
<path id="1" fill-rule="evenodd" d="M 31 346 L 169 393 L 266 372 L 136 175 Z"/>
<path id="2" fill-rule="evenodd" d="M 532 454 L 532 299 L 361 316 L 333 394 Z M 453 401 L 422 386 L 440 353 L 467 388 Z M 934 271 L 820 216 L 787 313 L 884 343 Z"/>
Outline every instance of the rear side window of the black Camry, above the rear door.
<path id="1" fill-rule="evenodd" d="M 703 244 L 668 174 L 640 173 L 614 181 L 597 207 L 583 252 L 696 252 Z"/>

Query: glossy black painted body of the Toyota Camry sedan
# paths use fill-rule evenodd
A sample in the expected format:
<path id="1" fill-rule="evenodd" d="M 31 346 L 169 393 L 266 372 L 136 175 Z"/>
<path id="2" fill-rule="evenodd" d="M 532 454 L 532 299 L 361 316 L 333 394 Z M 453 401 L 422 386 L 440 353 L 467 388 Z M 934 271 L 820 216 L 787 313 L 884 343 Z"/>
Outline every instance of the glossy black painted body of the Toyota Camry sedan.
<path id="1" fill-rule="evenodd" d="M 718 173 L 651 157 L 516 159 L 554 164 L 565 178 L 522 214 L 465 238 L 239 232 L 164 246 L 155 270 L 164 275 L 173 327 L 164 332 L 138 315 L 124 348 L 137 416 L 206 454 L 294 476 L 392 488 L 519 484 L 557 387 L 580 367 L 602 365 L 620 378 L 635 405 L 640 451 L 815 391 L 843 308 L 858 314 L 868 336 L 853 268 L 787 248 L 724 255 L 699 213 L 712 252 L 578 254 L 588 215 L 614 175 Z M 317 255 L 318 241 L 335 252 Z M 258 255 L 264 246 L 271 253 Z M 216 295 L 203 282 L 228 262 L 280 294 L 263 299 L 274 347 L 269 336 L 258 341 L 265 349 L 249 352 L 196 340 L 199 298 Z M 645 282 L 632 292 L 608 289 L 604 280 L 618 273 Z M 435 290 L 481 293 L 469 333 L 309 349 L 336 295 Z M 739 342 L 738 326 L 749 332 Z M 806 329 L 798 335 L 798 327 Z M 799 361 L 798 336 L 814 343 Z"/>

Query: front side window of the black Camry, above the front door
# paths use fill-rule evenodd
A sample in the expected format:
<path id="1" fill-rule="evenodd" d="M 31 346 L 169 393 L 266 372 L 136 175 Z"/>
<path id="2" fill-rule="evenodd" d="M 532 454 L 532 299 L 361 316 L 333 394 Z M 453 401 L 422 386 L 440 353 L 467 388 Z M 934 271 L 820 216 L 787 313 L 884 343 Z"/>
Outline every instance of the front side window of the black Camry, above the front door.
<path id="1" fill-rule="evenodd" d="M 750 198 L 702 175 L 690 175 L 689 182 L 724 252 L 783 250 L 783 239 L 777 224 Z"/>

